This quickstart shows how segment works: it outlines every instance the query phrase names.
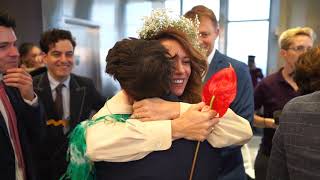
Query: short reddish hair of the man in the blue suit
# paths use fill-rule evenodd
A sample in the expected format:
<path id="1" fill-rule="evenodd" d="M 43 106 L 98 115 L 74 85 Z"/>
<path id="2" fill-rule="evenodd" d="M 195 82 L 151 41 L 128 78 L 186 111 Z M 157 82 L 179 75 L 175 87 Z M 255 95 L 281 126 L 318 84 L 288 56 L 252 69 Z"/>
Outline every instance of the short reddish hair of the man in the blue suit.
<path id="1" fill-rule="evenodd" d="M 218 21 L 214 12 L 203 5 L 194 6 L 190 11 L 184 14 L 184 17 L 194 20 L 198 16 L 199 20 L 201 21 L 202 17 L 208 17 L 212 24 L 217 28 Z"/>

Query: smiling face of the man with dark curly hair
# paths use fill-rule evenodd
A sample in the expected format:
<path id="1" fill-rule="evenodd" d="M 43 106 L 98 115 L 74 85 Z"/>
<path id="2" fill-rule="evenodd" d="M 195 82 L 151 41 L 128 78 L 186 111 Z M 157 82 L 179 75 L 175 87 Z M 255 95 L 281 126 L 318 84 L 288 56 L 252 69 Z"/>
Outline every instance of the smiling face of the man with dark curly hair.
<path id="1" fill-rule="evenodd" d="M 74 47 L 69 40 L 59 40 L 51 45 L 44 56 L 50 75 L 57 81 L 64 81 L 74 65 Z"/>

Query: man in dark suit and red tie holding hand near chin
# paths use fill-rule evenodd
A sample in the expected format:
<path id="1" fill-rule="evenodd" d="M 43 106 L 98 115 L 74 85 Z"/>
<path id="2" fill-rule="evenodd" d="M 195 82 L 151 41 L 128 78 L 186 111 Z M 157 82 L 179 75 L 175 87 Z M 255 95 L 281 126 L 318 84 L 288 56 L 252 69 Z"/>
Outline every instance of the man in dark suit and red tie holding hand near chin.
<path id="1" fill-rule="evenodd" d="M 15 22 L 0 11 L 0 177 L 35 180 L 30 144 L 43 136 L 44 113 L 31 76 L 19 65 Z"/>

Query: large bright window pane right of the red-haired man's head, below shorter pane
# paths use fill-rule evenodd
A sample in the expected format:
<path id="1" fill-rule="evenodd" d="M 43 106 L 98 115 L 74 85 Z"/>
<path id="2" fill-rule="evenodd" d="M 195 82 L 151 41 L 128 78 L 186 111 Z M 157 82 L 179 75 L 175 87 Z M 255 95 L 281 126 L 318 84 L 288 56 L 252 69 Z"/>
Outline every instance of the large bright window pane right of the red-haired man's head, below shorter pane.
<path id="1" fill-rule="evenodd" d="M 254 55 L 256 66 L 266 74 L 269 21 L 230 22 L 228 24 L 227 55 L 244 63 Z"/>

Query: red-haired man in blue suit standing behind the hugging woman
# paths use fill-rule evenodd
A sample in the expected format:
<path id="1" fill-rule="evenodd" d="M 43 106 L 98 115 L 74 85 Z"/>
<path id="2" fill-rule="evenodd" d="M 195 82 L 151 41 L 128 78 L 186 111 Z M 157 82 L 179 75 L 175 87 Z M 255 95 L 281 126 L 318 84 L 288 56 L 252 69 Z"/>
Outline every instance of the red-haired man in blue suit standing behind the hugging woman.
<path id="1" fill-rule="evenodd" d="M 252 122 L 254 113 L 253 87 L 248 66 L 240 61 L 221 54 L 214 49 L 214 43 L 219 35 L 216 16 L 209 8 L 199 5 L 188 11 L 185 17 L 194 20 L 199 18 L 200 43 L 207 50 L 209 69 L 204 79 L 206 82 L 219 70 L 229 67 L 230 64 L 237 74 L 237 95 L 230 108 L 241 117 Z M 221 151 L 222 165 L 219 179 L 246 179 L 241 147 L 225 148 Z"/>

